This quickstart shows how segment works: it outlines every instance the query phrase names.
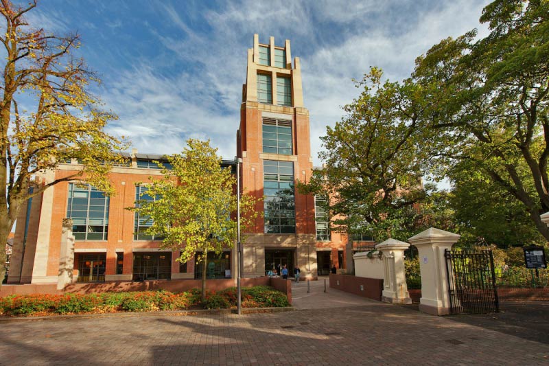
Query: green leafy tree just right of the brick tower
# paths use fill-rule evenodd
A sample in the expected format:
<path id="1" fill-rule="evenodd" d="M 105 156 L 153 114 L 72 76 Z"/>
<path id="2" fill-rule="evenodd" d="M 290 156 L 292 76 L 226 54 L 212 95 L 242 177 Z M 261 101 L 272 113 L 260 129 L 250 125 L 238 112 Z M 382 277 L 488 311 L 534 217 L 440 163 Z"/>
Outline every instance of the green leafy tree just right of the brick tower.
<path id="1" fill-rule="evenodd" d="M 347 116 L 321 137 L 324 167 L 299 189 L 331 198 L 335 230 L 369 231 L 378 241 L 401 238 L 403 218 L 425 198 L 424 106 L 410 80 L 382 83 L 377 68 L 356 85 L 363 91 L 344 106 Z"/>

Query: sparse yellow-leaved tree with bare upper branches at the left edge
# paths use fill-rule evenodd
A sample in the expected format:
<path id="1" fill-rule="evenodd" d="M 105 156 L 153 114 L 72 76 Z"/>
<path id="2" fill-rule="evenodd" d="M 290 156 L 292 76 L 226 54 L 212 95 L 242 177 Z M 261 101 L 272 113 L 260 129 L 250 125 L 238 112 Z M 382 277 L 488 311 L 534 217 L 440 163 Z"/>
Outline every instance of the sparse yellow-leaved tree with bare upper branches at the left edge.
<path id="1" fill-rule="evenodd" d="M 0 242 L 5 243 L 13 223 L 28 198 L 60 181 L 84 179 L 106 192 L 113 192 L 106 172 L 119 160 L 117 150 L 125 148 L 103 128 L 115 115 L 99 108 L 99 101 L 87 91 L 95 74 L 72 52 L 80 36 L 56 36 L 31 27 L 26 8 L 1 0 L 0 41 L 4 46 L 0 85 Z M 24 108 L 23 108 L 24 106 Z M 59 162 L 79 159 L 84 168 L 51 181 L 32 179 Z M 0 263 L 5 251 L 0 251 Z M 0 279 L 4 276 L 0 265 Z"/>

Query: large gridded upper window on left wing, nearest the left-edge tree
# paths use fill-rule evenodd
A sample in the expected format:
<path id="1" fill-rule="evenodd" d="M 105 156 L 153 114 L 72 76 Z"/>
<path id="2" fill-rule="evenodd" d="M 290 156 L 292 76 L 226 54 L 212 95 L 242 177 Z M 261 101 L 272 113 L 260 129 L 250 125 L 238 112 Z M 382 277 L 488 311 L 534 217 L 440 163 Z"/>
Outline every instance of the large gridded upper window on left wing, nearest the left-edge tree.
<path id="1" fill-rule="evenodd" d="M 69 184 L 67 217 L 75 240 L 107 240 L 109 198 L 91 185 Z"/>

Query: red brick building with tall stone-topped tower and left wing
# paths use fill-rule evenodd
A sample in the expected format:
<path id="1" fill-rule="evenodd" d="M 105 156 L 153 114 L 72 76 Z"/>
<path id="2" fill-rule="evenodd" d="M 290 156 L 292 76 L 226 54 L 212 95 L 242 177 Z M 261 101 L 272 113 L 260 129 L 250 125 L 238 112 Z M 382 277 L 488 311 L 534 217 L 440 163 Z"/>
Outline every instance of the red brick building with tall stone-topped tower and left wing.
<path id="1" fill-rule="evenodd" d="M 246 84 L 242 89 L 237 157 L 242 158 L 241 190 L 264 197 L 257 205 L 264 212 L 250 233 L 243 233 L 244 277 L 257 277 L 287 265 L 298 265 L 302 276 L 327 275 L 329 268 L 344 267 L 347 236 L 329 233 L 327 215 L 313 196 L 299 194 L 295 183 L 312 174 L 309 111 L 303 104 L 299 58 L 293 65 L 290 41 L 281 47 L 260 44 L 254 36 L 248 50 Z M 32 198 L 17 220 L 8 283 L 57 283 L 62 223 L 73 220 L 75 236 L 73 280 L 78 282 L 191 279 L 200 268 L 194 260 L 176 262 L 179 253 L 159 249 L 161 238 L 147 236 L 145 218 L 128 211 L 149 176 L 160 175 L 153 160 L 136 150 L 130 163 L 109 173 L 117 194 L 106 197 L 94 187 L 64 182 Z M 223 161 L 235 168 L 235 161 Z M 79 169 L 78 161 L 38 177 L 37 184 L 67 176 Z M 152 197 L 149 197 L 153 199 Z M 235 249 L 220 257 L 211 253 L 209 276 L 235 277 Z M 211 271 L 210 271 L 211 269 Z"/>

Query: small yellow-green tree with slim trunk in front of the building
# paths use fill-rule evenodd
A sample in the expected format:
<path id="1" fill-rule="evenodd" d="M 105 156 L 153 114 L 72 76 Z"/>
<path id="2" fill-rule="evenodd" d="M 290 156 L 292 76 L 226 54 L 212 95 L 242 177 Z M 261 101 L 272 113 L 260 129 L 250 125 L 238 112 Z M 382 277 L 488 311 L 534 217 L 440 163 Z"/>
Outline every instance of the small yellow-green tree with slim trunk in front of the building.
<path id="1" fill-rule="evenodd" d="M 172 170 L 163 169 L 161 179 L 150 179 L 146 194 L 154 201 L 139 201 L 133 211 L 149 217 L 148 233 L 164 238 L 161 247 L 180 251 L 180 262 L 187 262 L 197 251 L 202 254 L 202 300 L 206 295 L 207 257 L 231 248 L 237 237 L 236 180 L 229 168 L 222 168 L 217 149 L 209 141 L 189 139 L 180 155 L 167 157 Z M 161 165 L 161 164 L 159 164 Z M 240 200 L 242 231 L 253 226 L 257 211 L 255 198 Z"/>

